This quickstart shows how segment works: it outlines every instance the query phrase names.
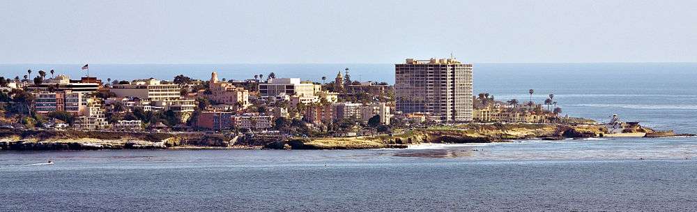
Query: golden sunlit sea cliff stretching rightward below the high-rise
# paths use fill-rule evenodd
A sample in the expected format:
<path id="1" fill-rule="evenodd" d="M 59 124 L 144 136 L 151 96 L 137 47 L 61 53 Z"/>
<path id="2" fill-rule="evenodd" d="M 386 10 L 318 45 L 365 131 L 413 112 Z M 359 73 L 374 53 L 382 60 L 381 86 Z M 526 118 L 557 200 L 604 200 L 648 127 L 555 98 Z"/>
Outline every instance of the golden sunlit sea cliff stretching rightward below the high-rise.
<path id="1" fill-rule="evenodd" d="M 632 132 L 655 133 L 639 127 Z M 491 143 L 514 139 L 565 139 L 604 137 L 607 131 L 598 124 L 464 124 L 405 130 L 392 135 L 373 137 L 298 138 L 266 144 L 267 149 L 380 149 L 406 148 L 421 143 Z M 629 132 L 628 132 L 629 133 Z M 653 135 L 653 134 L 651 134 Z"/>

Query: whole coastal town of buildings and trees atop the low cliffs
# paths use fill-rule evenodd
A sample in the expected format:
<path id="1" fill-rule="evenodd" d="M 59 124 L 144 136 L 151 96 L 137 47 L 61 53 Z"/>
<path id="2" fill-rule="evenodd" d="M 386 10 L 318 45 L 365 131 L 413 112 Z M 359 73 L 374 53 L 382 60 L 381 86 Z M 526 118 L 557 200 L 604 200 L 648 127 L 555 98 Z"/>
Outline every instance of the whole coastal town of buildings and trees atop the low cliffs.
<path id="1" fill-rule="evenodd" d="M 349 68 L 333 80 L 318 76 L 321 82 L 274 73 L 227 80 L 213 72 L 210 79 L 178 75 L 171 81 L 70 79 L 54 76 L 53 70 L 50 77 L 43 70 L 39 74 L 34 80 L 31 70 L 24 79 L 0 77 L 0 93 L 19 116 L 14 123 L 59 130 L 244 132 L 273 138 L 375 135 L 392 128 L 471 121 L 544 123 L 558 114 L 550 105 L 547 111 L 540 105 L 521 109 L 493 97 L 473 96 L 473 64 L 454 58 L 406 59 L 395 64 L 394 85 L 355 81 Z"/>

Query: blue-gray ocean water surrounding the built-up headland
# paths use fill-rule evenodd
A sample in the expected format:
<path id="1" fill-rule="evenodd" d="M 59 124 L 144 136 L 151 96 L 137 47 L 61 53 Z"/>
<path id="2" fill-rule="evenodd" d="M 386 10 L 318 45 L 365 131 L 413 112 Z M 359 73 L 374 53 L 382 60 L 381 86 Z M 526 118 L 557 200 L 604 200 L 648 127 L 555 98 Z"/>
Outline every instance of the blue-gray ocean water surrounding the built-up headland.
<path id="1" fill-rule="evenodd" d="M 102 78 L 252 73 L 392 83 L 390 64 L 91 65 Z M 63 66 L 1 65 L 5 76 Z M 77 73 L 77 68 L 68 67 Z M 15 74 L 16 73 L 16 74 Z M 71 74 L 76 76 L 75 74 Z M 247 76 L 250 75 L 250 76 Z M 313 78 L 314 77 L 314 78 Z M 475 93 L 697 132 L 696 63 L 475 64 Z M 0 211 L 694 211 L 697 139 L 359 151 L 0 152 Z M 43 165 L 46 160 L 54 165 Z M 695 160 L 693 160 L 695 159 Z"/>

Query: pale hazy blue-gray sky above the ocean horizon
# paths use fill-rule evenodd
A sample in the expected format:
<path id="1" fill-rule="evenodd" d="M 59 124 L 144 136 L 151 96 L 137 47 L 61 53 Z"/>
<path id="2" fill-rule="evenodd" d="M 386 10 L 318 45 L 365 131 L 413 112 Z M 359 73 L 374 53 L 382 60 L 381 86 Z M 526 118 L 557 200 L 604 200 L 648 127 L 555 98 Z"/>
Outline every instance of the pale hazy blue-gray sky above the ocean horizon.
<path id="1" fill-rule="evenodd" d="M 0 63 L 697 62 L 697 1 L 10 1 Z"/>

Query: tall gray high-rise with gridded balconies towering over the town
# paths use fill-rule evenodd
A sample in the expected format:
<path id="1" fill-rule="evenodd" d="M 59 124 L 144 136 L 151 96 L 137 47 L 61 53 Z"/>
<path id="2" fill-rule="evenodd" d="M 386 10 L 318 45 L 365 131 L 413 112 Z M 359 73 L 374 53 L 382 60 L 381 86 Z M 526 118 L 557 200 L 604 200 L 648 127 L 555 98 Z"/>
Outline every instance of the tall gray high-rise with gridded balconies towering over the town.
<path id="1" fill-rule="evenodd" d="M 472 64 L 406 59 L 395 64 L 397 111 L 430 113 L 442 122 L 472 121 Z"/>

